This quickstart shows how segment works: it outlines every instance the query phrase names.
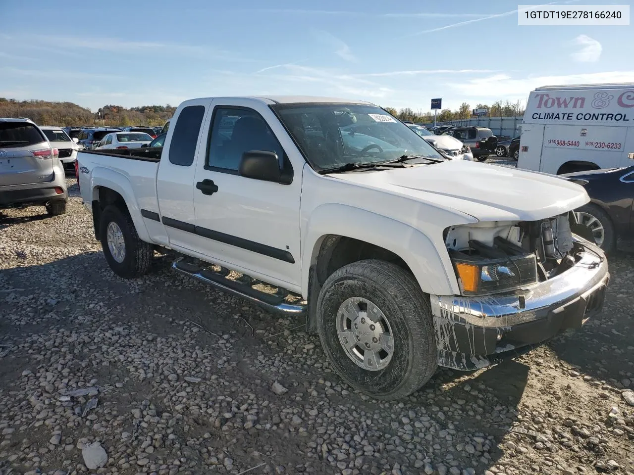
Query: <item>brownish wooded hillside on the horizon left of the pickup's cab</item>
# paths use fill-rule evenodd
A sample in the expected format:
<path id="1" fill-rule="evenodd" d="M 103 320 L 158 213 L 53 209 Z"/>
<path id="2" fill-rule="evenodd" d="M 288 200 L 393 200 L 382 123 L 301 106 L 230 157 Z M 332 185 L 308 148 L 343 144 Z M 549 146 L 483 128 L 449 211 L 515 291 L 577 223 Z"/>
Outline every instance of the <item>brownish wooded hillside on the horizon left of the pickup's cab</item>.
<path id="1" fill-rule="evenodd" d="M 107 105 L 96 112 L 71 102 L 16 101 L 0 98 L 0 117 L 30 118 L 37 125 L 164 125 L 176 107 Z"/>

